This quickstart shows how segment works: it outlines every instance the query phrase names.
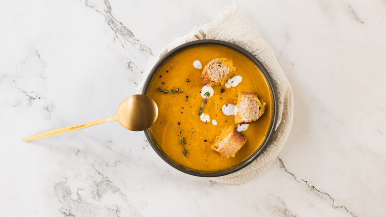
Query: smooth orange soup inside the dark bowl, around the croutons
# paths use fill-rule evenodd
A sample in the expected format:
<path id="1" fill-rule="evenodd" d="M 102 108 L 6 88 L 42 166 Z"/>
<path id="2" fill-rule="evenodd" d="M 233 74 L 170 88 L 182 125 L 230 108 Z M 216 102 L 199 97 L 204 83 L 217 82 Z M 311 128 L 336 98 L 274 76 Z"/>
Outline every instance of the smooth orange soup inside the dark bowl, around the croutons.
<path id="1" fill-rule="evenodd" d="M 236 87 L 213 86 L 214 94 L 202 109 L 210 117 L 210 121 L 205 123 L 198 115 L 203 100 L 200 94 L 204 86 L 200 78 L 202 69 L 193 67 L 193 62 L 199 60 L 204 67 L 219 57 L 233 61 L 236 67 L 234 76 L 240 75 L 242 81 Z M 172 93 L 173 89 L 179 92 Z M 247 137 L 246 143 L 234 158 L 226 158 L 214 151 L 212 145 L 222 130 L 235 124 L 235 116 L 225 115 L 221 109 L 227 103 L 236 105 L 238 92 L 253 92 L 267 105 L 260 119 L 241 132 Z M 273 96 L 264 74 L 245 55 L 219 45 L 189 48 L 166 60 L 154 74 L 147 96 L 159 109 L 158 119 L 150 128 L 158 147 L 175 163 L 193 170 L 219 171 L 241 163 L 263 144 L 273 118 Z"/>

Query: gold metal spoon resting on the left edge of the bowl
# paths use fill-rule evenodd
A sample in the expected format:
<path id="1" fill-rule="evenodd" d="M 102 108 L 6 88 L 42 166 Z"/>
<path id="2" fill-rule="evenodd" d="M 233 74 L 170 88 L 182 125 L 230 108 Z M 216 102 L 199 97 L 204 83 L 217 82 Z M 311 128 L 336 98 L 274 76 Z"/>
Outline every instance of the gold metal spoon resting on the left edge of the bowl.
<path id="1" fill-rule="evenodd" d="M 142 131 L 149 128 L 157 119 L 158 107 L 155 102 L 145 95 L 133 95 L 126 98 L 119 105 L 117 113 L 109 118 L 81 123 L 57 130 L 41 133 L 35 136 L 24 138 L 23 141 L 40 139 L 48 136 L 66 133 L 74 130 L 94 126 L 110 120 L 118 121 L 123 127 L 132 131 Z"/>

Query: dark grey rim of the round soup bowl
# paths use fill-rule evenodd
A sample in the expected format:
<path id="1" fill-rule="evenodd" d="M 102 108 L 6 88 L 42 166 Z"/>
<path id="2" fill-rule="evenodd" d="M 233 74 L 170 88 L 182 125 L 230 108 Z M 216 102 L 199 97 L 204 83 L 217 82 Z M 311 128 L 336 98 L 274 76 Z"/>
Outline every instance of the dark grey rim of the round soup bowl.
<path id="1" fill-rule="evenodd" d="M 162 66 L 164 61 L 166 61 L 169 57 L 173 56 L 174 54 L 177 54 L 177 53 L 181 52 L 182 50 L 185 50 L 185 49 L 187 49 L 189 47 L 202 46 L 202 45 L 220 45 L 220 46 L 224 46 L 224 47 L 227 47 L 227 48 L 231 48 L 233 50 L 236 50 L 236 51 L 240 52 L 241 54 L 244 54 L 245 56 L 247 56 L 252 62 L 254 62 L 259 67 L 259 69 L 263 72 L 264 76 L 268 80 L 268 83 L 269 83 L 269 86 L 270 86 L 271 92 L 272 92 L 273 102 L 274 102 L 274 113 L 273 113 L 273 120 L 272 120 L 272 123 L 271 123 L 271 127 L 269 129 L 269 133 L 268 133 L 268 135 L 267 135 L 263 145 L 255 153 L 251 154 L 246 161 L 244 160 L 241 163 L 239 163 L 238 165 L 236 165 L 234 167 L 231 167 L 228 170 L 221 170 L 221 171 L 218 171 L 218 172 L 203 172 L 203 171 L 199 172 L 199 171 L 196 171 L 196 170 L 190 170 L 188 168 L 185 168 L 182 165 L 174 163 L 171 159 L 169 159 L 166 156 L 166 154 L 164 154 L 157 147 L 157 145 L 154 144 L 154 142 L 153 142 L 153 140 L 152 140 L 152 138 L 151 138 L 151 136 L 149 134 L 149 131 L 151 131 L 151 129 L 148 128 L 148 129 L 144 130 L 144 132 L 145 132 L 145 136 L 146 136 L 146 139 L 147 139 L 148 143 L 153 148 L 155 153 L 157 153 L 157 155 L 163 161 L 165 161 L 166 163 L 168 163 L 172 167 L 178 169 L 181 172 L 184 172 L 184 173 L 187 173 L 187 174 L 190 174 L 190 175 L 194 175 L 194 176 L 199 176 L 199 177 L 219 177 L 219 176 L 228 175 L 228 174 L 231 174 L 231 173 L 234 173 L 236 171 L 241 170 L 245 166 L 247 166 L 250 163 L 252 163 L 253 161 L 255 161 L 261 155 L 261 153 L 263 153 L 263 151 L 267 148 L 269 142 L 271 141 L 271 139 L 273 137 L 275 129 L 276 129 L 276 123 L 277 123 L 277 119 L 278 119 L 278 97 L 277 97 L 277 92 L 276 92 L 275 84 L 274 84 L 270 74 L 268 73 L 267 69 L 264 67 L 263 63 L 261 63 L 260 60 L 258 60 L 256 56 L 254 56 L 253 54 L 249 53 L 248 51 L 246 51 L 245 49 L 241 48 L 238 45 L 235 45 L 235 44 L 232 44 L 232 43 L 226 42 L 226 41 L 212 40 L 212 39 L 204 39 L 204 40 L 196 40 L 196 41 L 192 41 L 192 42 L 187 42 L 185 44 L 182 44 L 182 45 L 172 49 L 171 51 L 169 51 L 168 53 L 163 55 L 157 61 L 157 63 L 153 66 L 153 68 L 150 70 L 149 74 L 147 75 L 141 94 L 142 95 L 146 95 L 147 89 L 149 87 L 149 84 L 150 84 L 154 74 L 157 72 L 158 68 L 160 66 Z"/>

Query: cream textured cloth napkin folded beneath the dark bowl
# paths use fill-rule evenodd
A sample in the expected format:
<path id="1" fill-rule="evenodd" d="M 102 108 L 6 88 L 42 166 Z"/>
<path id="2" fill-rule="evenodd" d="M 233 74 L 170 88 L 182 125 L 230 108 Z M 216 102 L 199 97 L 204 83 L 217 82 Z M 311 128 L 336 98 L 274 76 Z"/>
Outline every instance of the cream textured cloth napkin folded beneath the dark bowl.
<path id="1" fill-rule="evenodd" d="M 278 122 L 275 133 L 265 151 L 255 161 L 237 172 L 225 176 L 208 178 L 220 183 L 243 184 L 256 178 L 266 170 L 268 166 L 274 162 L 287 141 L 293 119 L 291 85 L 282 67 L 279 65 L 273 50 L 245 20 L 236 7 L 225 10 L 215 18 L 212 23 L 195 27 L 192 32 L 175 39 L 171 44 L 162 49 L 160 54 L 152 59 L 149 70 L 144 76 L 146 77 L 148 75 L 150 69 L 159 58 L 175 47 L 202 39 L 227 41 L 244 48 L 263 63 L 276 86 L 279 103 Z M 143 83 L 144 80 L 145 79 L 143 79 Z M 140 87 L 143 87 L 143 84 L 140 85 Z"/>

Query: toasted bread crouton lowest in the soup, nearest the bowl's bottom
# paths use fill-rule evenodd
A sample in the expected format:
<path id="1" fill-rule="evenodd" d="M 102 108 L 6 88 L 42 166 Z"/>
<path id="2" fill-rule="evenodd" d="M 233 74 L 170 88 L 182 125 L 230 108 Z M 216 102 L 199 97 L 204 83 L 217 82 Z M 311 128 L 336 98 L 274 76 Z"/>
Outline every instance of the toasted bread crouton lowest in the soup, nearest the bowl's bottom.
<path id="1" fill-rule="evenodd" d="M 246 137 L 231 125 L 221 133 L 212 148 L 222 156 L 233 158 L 245 142 Z"/>

